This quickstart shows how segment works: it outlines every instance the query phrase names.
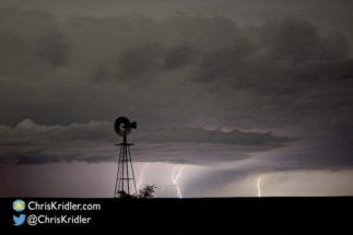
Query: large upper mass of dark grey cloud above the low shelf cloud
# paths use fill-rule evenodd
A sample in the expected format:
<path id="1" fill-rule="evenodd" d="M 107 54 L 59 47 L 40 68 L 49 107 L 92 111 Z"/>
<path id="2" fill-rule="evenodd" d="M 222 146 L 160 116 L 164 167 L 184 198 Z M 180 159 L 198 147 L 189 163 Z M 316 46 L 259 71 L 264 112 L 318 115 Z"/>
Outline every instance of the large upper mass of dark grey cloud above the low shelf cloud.
<path id="1" fill-rule="evenodd" d="M 9 46 L 1 107 L 13 117 L 0 118 L 7 125 L 111 120 L 119 109 L 154 127 L 267 129 L 351 108 L 352 84 L 338 79 L 352 73 L 346 36 L 321 34 L 305 20 L 239 27 L 227 17 L 59 22 L 44 12 L 2 11 L 1 45 Z"/>

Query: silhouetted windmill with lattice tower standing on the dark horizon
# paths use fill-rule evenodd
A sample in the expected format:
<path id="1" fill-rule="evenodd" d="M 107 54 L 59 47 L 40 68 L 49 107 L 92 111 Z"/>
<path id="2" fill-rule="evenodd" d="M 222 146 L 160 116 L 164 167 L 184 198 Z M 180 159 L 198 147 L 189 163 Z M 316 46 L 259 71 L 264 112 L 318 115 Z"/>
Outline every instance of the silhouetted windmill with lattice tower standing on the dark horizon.
<path id="1" fill-rule="evenodd" d="M 125 195 L 131 195 L 130 192 L 134 189 L 137 193 L 137 187 L 134 181 L 130 145 L 132 143 L 127 143 L 127 136 L 131 132 L 131 128 L 137 128 L 137 122 L 130 122 L 126 117 L 119 117 L 114 124 L 115 132 L 122 137 L 122 143 L 115 144 L 120 146 L 119 153 L 119 163 L 118 163 L 118 173 L 117 181 L 115 185 L 114 198 L 121 198 Z"/>

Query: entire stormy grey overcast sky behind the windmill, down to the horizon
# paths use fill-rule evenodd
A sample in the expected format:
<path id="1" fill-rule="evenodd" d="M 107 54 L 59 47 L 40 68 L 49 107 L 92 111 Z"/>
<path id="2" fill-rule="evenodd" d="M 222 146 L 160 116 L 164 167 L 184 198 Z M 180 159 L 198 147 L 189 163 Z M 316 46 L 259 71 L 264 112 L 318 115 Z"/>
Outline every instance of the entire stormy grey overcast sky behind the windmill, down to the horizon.
<path id="1" fill-rule="evenodd" d="M 179 173 L 183 197 L 352 196 L 352 15 L 349 0 L 1 0 L 0 197 L 113 197 L 120 116 L 155 197 L 178 197 Z"/>

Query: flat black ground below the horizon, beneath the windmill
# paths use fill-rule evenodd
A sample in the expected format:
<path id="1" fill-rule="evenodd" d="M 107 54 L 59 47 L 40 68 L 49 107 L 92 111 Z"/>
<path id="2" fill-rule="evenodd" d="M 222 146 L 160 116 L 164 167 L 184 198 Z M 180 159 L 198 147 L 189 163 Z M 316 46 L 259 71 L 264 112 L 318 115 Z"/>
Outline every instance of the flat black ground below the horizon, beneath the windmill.
<path id="1" fill-rule="evenodd" d="M 325 198 L 202 198 L 202 199 L 63 199 L 21 198 L 26 203 L 16 212 L 16 198 L 0 199 L 0 225 L 19 232 L 93 231 L 104 234 L 352 234 L 353 197 Z M 42 204 L 94 203 L 101 210 L 30 210 Z M 55 218 L 57 222 L 31 226 L 13 225 L 13 215 Z M 91 218 L 90 223 L 67 224 L 68 218 Z M 64 218 L 64 221 L 61 220 Z M 79 219 L 77 219 L 78 221 Z M 108 232 L 111 231 L 111 232 Z"/>

